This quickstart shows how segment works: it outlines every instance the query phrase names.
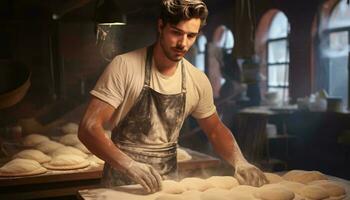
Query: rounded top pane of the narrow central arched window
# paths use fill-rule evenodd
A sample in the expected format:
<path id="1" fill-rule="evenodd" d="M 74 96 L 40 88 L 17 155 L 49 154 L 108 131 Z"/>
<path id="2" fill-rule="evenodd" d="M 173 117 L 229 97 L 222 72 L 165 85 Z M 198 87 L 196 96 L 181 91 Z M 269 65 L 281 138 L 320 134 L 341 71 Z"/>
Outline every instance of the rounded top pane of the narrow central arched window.
<path id="1" fill-rule="evenodd" d="M 289 32 L 289 24 L 287 17 L 279 12 L 272 20 L 269 30 L 269 39 L 287 37 Z"/>

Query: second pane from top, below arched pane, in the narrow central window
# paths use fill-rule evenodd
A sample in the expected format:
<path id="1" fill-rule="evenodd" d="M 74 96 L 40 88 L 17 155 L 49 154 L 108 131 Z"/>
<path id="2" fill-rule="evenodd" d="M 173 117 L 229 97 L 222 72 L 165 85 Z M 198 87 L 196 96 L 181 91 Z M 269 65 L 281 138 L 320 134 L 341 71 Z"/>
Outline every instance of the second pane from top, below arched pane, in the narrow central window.
<path id="1" fill-rule="evenodd" d="M 270 41 L 268 43 L 268 63 L 289 62 L 287 40 Z"/>

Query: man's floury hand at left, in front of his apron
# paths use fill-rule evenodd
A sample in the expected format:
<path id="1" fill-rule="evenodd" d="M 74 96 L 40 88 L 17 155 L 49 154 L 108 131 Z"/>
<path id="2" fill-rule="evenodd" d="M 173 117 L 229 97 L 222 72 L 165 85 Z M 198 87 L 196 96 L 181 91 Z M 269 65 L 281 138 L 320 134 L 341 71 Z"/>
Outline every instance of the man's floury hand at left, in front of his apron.
<path id="1" fill-rule="evenodd" d="M 136 183 L 141 184 L 148 193 L 161 189 L 162 177 L 151 165 L 132 160 L 125 170 L 127 175 Z"/>

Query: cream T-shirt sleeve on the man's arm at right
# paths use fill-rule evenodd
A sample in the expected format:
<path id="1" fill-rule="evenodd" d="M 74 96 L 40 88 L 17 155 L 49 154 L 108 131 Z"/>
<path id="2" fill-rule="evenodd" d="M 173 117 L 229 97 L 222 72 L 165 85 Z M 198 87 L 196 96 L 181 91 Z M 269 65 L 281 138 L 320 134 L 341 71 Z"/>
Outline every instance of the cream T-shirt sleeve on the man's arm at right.
<path id="1" fill-rule="evenodd" d="M 196 119 L 203 119 L 213 115 L 215 112 L 213 89 L 208 78 L 204 76 L 199 86 L 199 100 L 192 112 L 192 116 Z"/>

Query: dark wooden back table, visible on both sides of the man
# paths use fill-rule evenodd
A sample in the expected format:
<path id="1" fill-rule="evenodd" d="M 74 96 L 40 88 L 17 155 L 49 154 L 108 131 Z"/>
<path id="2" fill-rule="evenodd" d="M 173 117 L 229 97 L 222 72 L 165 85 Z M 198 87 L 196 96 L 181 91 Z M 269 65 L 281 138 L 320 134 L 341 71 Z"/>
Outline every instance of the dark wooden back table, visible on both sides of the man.
<path id="1" fill-rule="evenodd" d="M 197 175 L 202 170 L 220 165 L 220 160 L 209 155 L 185 149 L 192 157 L 178 162 L 179 174 Z M 89 166 L 76 170 L 48 170 L 46 173 L 23 177 L 0 177 L 0 199 L 39 199 L 75 196 L 78 190 L 97 188 L 103 166 Z"/>

